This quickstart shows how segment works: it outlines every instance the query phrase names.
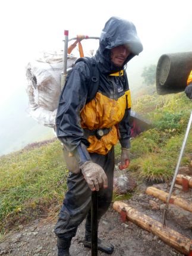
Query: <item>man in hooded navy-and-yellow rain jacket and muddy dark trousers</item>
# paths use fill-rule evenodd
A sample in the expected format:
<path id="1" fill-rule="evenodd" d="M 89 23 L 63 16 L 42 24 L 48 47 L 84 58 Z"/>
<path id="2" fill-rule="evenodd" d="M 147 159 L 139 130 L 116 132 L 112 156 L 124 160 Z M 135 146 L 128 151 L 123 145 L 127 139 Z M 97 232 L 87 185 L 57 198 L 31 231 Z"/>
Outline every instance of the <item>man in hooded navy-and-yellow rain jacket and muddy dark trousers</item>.
<path id="1" fill-rule="evenodd" d="M 75 64 L 61 93 L 56 132 L 64 152 L 73 155 L 68 165 L 68 192 L 55 226 L 58 256 L 69 254 L 71 239 L 86 218 L 84 246 L 90 247 L 91 191 L 98 192 L 98 224 L 112 200 L 114 145 L 121 143 L 121 169 L 130 162 L 131 98 L 124 66 L 143 50 L 133 23 L 111 17 L 102 30 L 93 61 L 99 70 L 99 88 L 87 102 L 89 67 Z M 70 158 L 70 157 L 69 157 Z M 67 158 L 66 158 L 67 159 Z M 114 246 L 98 238 L 98 249 L 111 254 Z"/>

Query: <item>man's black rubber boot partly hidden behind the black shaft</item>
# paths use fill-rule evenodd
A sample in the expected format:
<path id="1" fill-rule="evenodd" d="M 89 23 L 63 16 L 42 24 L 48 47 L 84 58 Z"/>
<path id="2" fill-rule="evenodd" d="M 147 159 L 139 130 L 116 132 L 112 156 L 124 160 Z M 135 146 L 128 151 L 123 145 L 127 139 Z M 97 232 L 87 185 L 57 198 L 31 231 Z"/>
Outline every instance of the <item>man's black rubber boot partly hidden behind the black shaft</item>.
<path id="1" fill-rule="evenodd" d="M 98 221 L 99 225 L 99 221 Z M 90 225 L 90 218 L 89 216 L 86 219 L 86 232 L 85 232 L 85 238 L 83 241 L 84 246 L 91 248 L 91 225 Z M 109 242 L 105 242 L 100 238 L 97 238 L 97 246 L 98 250 L 105 252 L 106 254 L 112 254 L 114 251 L 114 245 L 112 245 Z"/>

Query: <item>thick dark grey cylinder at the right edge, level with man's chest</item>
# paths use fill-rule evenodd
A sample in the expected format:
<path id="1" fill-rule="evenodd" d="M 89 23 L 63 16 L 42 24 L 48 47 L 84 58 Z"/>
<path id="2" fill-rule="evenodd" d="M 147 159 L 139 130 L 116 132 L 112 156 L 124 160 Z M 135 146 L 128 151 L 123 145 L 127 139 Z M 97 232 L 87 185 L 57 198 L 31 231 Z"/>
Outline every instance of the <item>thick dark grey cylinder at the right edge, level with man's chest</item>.
<path id="1" fill-rule="evenodd" d="M 177 93 L 185 90 L 187 78 L 192 70 L 192 52 L 163 54 L 156 69 L 158 94 Z"/>

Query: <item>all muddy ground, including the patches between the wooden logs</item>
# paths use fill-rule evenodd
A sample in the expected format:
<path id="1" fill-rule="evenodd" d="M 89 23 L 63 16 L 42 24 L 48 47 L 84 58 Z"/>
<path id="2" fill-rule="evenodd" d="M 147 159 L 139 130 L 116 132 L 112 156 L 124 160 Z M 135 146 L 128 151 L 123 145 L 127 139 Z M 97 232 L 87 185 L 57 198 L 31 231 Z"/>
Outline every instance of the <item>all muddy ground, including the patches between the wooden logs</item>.
<path id="1" fill-rule="evenodd" d="M 186 171 L 187 168 L 184 170 Z M 128 175 L 130 176 L 129 173 Z M 181 170 L 180 173 L 184 173 L 184 171 Z M 189 174 L 189 170 L 187 174 Z M 118 176 L 117 171 L 115 175 Z M 133 176 L 131 177 L 133 178 Z M 146 214 L 162 223 L 162 211 L 165 204 L 159 199 L 146 194 L 148 186 L 152 185 L 144 183 L 137 185 L 137 189 L 131 199 L 125 202 L 139 210 L 140 213 Z M 160 183 L 153 186 L 162 191 L 169 192 L 171 183 Z M 179 186 L 175 186 L 173 194 L 192 202 L 191 192 L 191 189 L 188 192 L 182 192 Z M 166 219 L 166 226 L 192 239 L 192 214 L 190 212 L 171 205 Z M 56 256 L 56 237 L 53 233 L 55 222 L 56 218 L 51 222 L 48 222 L 46 219 L 37 219 L 26 226 L 20 225 L 17 232 L 8 233 L 4 241 L 0 243 L 0 255 Z M 115 249 L 111 255 L 184 255 L 161 241 L 158 236 L 141 229 L 141 227 L 131 221 L 127 220 L 125 223 L 122 223 L 120 214 L 112 208 L 112 205 L 100 220 L 98 233 L 101 239 L 109 241 L 114 245 Z M 77 235 L 73 238 L 70 248 L 71 256 L 91 255 L 90 249 L 84 247 L 83 239 L 84 221 L 78 227 Z M 106 254 L 99 251 L 98 255 Z"/>

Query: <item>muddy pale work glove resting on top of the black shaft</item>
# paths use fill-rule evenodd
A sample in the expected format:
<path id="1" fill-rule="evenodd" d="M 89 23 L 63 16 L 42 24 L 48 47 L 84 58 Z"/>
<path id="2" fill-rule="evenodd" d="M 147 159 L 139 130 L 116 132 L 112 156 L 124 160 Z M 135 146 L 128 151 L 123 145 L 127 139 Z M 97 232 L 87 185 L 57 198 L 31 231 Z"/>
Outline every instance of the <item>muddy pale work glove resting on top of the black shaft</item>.
<path id="1" fill-rule="evenodd" d="M 102 186 L 103 188 L 108 187 L 108 178 L 99 164 L 95 164 L 93 161 L 86 161 L 80 168 L 84 175 L 84 179 L 86 179 L 86 182 L 92 191 L 99 191 L 99 188 L 102 188 Z"/>

